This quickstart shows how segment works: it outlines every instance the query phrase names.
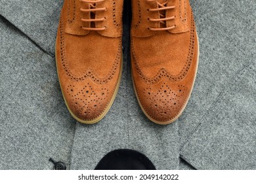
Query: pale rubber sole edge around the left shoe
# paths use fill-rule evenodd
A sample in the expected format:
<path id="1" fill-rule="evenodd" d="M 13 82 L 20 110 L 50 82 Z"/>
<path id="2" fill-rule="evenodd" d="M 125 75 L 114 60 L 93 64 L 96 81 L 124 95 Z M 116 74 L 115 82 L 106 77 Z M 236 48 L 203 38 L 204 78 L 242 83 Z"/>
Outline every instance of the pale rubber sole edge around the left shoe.
<path id="1" fill-rule="evenodd" d="M 55 52 L 56 52 L 56 50 L 55 50 Z M 56 56 L 55 56 L 55 58 L 56 58 Z M 57 59 L 55 61 L 56 61 L 56 66 L 57 66 L 58 65 Z M 72 110 L 70 110 L 70 107 L 68 107 L 68 103 L 66 102 L 66 99 L 63 95 L 62 88 L 61 88 L 61 85 L 60 85 L 60 90 L 62 92 L 62 96 L 63 96 L 63 99 L 65 101 L 66 107 L 68 108 L 68 111 L 73 116 L 73 118 L 75 118 L 75 120 L 77 120 L 77 122 L 80 122 L 81 124 L 96 124 L 97 122 L 102 120 L 102 118 L 104 118 L 104 116 L 106 116 L 106 114 L 108 113 L 108 110 L 110 110 L 110 108 L 112 107 L 112 104 L 114 103 L 114 100 L 116 99 L 116 94 L 118 92 L 118 88 L 119 88 L 119 85 L 120 85 L 120 82 L 121 82 L 121 76 L 122 76 L 122 71 L 123 71 L 123 54 L 121 54 L 121 65 L 120 65 L 120 67 L 121 68 L 120 68 L 120 73 L 119 73 L 118 80 L 117 80 L 116 89 L 115 89 L 114 94 L 113 94 L 113 96 L 110 100 L 110 103 L 108 103 L 107 107 L 102 112 L 102 114 L 100 114 L 100 116 L 98 116 L 94 120 L 81 120 L 80 118 L 77 118 L 77 116 L 75 116 L 75 114 L 72 112 Z M 58 67 L 56 67 L 56 70 L 57 70 L 57 74 L 58 74 Z M 58 78 L 59 78 L 59 76 L 58 76 Z"/>

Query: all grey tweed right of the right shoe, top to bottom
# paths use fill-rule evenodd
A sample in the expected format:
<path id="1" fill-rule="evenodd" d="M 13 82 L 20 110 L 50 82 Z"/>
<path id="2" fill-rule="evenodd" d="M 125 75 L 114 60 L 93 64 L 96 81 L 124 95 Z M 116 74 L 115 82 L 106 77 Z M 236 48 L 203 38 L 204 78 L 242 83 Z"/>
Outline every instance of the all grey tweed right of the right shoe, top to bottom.
<path id="1" fill-rule="evenodd" d="M 255 68 L 246 70 L 256 63 L 256 1 L 193 1 L 192 6 L 200 63 L 192 97 L 179 118 L 182 158 L 196 159 L 196 169 L 256 169 Z"/>

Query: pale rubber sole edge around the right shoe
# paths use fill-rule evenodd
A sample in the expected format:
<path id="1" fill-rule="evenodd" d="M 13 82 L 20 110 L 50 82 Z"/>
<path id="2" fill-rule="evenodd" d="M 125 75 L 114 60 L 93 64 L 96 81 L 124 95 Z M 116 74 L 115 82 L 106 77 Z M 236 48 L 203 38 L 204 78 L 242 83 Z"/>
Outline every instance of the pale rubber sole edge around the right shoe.
<path id="1" fill-rule="evenodd" d="M 198 38 L 198 33 L 196 33 L 196 37 Z M 197 61 L 196 61 L 196 74 L 198 73 L 199 55 L 200 55 L 200 51 L 199 51 L 199 40 L 198 40 L 198 58 L 197 58 Z M 177 116 L 175 116 L 175 118 L 173 118 L 173 119 L 171 119 L 171 120 L 169 120 L 169 121 L 167 121 L 167 122 L 159 122 L 159 121 L 157 121 L 157 120 L 154 120 L 151 116 L 149 116 L 148 113 L 146 112 L 146 110 L 144 110 L 144 108 L 142 107 L 142 104 L 140 103 L 140 100 L 139 100 L 139 95 L 137 94 L 137 91 L 136 91 L 136 88 L 135 88 L 135 82 L 134 82 L 134 80 L 133 80 L 133 73 L 131 73 L 131 78 L 132 78 L 132 80 L 133 80 L 133 89 L 134 89 L 134 91 L 135 91 L 135 95 L 136 95 L 136 97 L 137 97 L 137 101 L 138 101 L 138 103 L 139 103 L 139 105 L 140 105 L 140 108 L 141 108 L 142 112 L 146 115 L 146 117 L 147 117 L 150 121 L 154 122 L 155 124 L 167 125 L 167 124 L 171 124 L 171 123 L 175 122 L 175 120 L 177 120 L 177 119 L 179 118 L 179 116 L 181 116 L 182 112 L 183 112 L 184 109 L 186 108 L 186 105 L 188 104 L 188 100 L 190 99 L 190 95 L 191 95 L 191 93 L 192 93 L 192 90 L 193 90 L 193 87 L 194 87 L 194 83 L 195 83 L 195 80 L 196 80 L 196 74 L 195 74 L 195 76 L 194 76 L 194 81 L 193 81 L 193 84 L 192 84 L 191 91 L 190 91 L 190 93 L 189 93 L 189 95 L 188 95 L 188 99 L 186 100 L 186 103 L 184 103 L 184 105 L 183 105 L 181 111 L 179 112 L 179 114 L 177 114 Z"/>

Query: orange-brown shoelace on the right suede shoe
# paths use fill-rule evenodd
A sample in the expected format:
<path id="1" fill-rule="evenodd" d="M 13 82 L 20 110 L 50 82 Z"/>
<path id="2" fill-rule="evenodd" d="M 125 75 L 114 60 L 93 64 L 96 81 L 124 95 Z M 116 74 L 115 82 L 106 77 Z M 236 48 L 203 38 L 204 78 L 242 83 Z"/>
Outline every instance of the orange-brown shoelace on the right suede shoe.
<path id="1" fill-rule="evenodd" d="M 148 29 L 150 29 L 151 31 L 166 31 L 166 30 L 171 30 L 176 26 L 176 25 L 173 25 L 171 27 L 166 27 L 166 21 L 175 19 L 175 16 L 165 17 L 165 10 L 173 9 L 175 8 L 175 6 L 168 7 L 167 1 L 165 1 L 164 3 L 159 3 L 158 0 L 146 0 L 146 1 L 148 2 L 157 1 L 158 8 L 150 8 L 148 9 L 148 11 L 151 11 L 151 12 L 159 11 L 160 13 L 160 18 L 148 18 L 148 20 L 151 22 L 160 22 L 161 24 L 165 25 L 165 27 L 160 27 L 160 28 L 148 27 Z"/>

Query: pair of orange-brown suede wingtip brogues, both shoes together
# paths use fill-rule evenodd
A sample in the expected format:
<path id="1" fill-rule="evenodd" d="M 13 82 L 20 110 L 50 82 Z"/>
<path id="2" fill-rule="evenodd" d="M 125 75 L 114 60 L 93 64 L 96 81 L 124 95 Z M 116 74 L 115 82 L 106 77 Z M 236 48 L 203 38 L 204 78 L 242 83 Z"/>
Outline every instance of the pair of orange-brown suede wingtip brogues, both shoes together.
<path id="1" fill-rule="evenodd" d="M 132 0 L 131 62 L 144 114 L 170 124 L 188 103 L 199 46 L 188 0 Z M 122 72 L 123 0 L 65 0 L 56 67 L 68 110 L 95 124 L 110 109 Z"/>

